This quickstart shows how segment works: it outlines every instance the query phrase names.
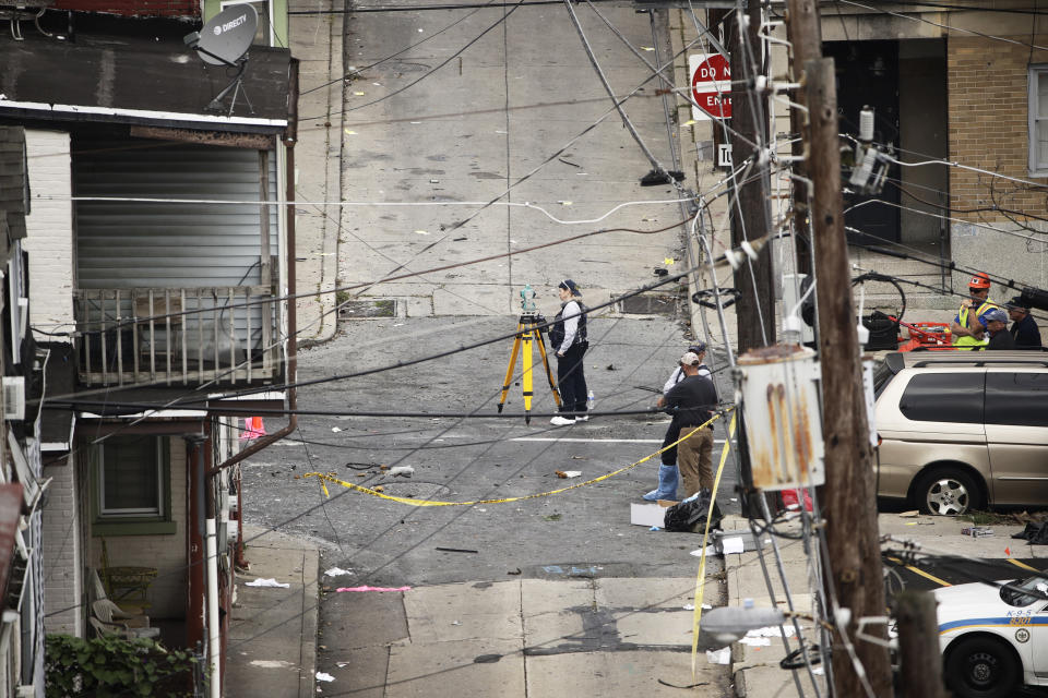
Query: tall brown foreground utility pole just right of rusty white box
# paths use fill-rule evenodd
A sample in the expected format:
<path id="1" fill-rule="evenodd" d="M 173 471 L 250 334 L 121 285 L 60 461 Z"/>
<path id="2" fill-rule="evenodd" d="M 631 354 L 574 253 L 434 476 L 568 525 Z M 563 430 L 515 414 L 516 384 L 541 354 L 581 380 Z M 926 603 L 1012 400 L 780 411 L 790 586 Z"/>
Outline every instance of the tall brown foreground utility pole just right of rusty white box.
<path id="1" fill-rule="evenodd" d="M 888 648 L 855 637 L 858 618 L 884 615 L 884 579 L 877 532 L 872 448 L 856 332 L 858 318 L 851 301 L 848 249 L 844 237 L 833 59 L 808 61 L 805 82 L 810 144 L 808 171 L 814 189 L 811 222 L 818 278 L 822 435 L 825 441 L 826 483 L 822 504 L 829 549 L 826 577 L 833 585 L 837 604 L 851 611 L 851 619 L 846 626 L 847 640 L 855 646 L 873 695 L 884 698 L 892 696 Z M 868 626 L 866 631 L 886 637 L 885 629 Z M 866 690 L 860 676 L 843 642 L 844 638 L 835 633 L 834 695 L 864 696 Z"/>

